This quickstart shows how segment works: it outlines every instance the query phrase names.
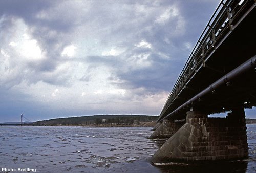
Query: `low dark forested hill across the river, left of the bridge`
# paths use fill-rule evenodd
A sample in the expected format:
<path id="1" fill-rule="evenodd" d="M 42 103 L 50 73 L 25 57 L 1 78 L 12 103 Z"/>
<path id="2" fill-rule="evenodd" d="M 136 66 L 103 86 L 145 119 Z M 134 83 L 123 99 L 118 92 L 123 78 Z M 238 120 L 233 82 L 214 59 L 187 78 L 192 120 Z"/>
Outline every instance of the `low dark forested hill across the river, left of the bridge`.
<path id="1" fill-rule="evenodd" d="M 152 122 L 157 119 L 158 116 L 148 115 L 92 115 L 37 121 L 35 122 L 35 125 L 140 125 L 141 123 Z"/>

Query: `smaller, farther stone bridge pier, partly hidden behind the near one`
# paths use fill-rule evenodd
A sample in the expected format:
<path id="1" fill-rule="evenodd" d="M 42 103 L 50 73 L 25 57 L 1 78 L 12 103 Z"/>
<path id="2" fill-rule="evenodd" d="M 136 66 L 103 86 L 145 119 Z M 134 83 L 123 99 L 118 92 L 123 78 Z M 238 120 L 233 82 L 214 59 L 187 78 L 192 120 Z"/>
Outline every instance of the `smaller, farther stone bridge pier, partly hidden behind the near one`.
<path id="1" fill-rule="evenodd" d="M 149 137 L 150 139 L 168 139 L 173 136 L 184 122 L 175 122 L 170 119 L 164 119 L 161 125 Z"/>

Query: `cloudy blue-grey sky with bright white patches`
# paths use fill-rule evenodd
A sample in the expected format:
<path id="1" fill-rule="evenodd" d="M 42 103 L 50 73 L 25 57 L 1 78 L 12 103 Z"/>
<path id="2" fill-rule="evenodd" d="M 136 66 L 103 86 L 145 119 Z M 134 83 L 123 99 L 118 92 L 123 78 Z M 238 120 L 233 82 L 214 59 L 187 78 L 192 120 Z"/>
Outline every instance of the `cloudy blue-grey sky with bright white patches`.
<path id="1" fill-rule="evenodd" d="M 0 122 L 159 115 L 218 4 L 0 1 Z"/>

